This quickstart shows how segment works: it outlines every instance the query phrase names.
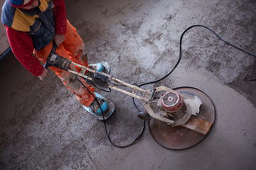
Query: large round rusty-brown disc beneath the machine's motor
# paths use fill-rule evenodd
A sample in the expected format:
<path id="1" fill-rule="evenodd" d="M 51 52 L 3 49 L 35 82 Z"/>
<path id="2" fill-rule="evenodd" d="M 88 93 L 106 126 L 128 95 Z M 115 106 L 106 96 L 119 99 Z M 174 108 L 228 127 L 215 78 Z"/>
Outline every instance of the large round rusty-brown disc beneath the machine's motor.
<path id="1" fill-rule="evenodd" d="M 202 105 L 197 117 L 210 123 L 214 122 L 215 108 L 213 106 L 213 102 L 205 93 L 203 93 L 203 91 L 193 87 L 178 87 L 174 90 L 178 92 L 189 92 L 198 96 L 202 101 Z M 193 147 L 208 135 L 201 135 L 198 132 L 182 126 L 171 127 L 171 125 L 167 125 L 166 123 L 154 118 L 151 118 L 149 121 L 149 130 L 159 145 L 169 149 L 186 149 L 188 147 Z"/>

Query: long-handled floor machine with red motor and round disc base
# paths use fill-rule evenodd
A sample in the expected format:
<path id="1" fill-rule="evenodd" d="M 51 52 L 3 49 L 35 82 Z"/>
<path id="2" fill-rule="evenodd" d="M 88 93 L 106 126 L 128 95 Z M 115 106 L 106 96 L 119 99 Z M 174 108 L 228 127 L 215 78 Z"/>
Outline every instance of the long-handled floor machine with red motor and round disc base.
<path id="1" fill-rule="evenodd" d="M 80 67 L 81 71 L 70 69 L 70 64 Z M 215 108 L 210 98 L 198 89 L 192 87 L 179 87 L 170 89 L 159 86 L 153 89 L 141 89 L 138 86 L 127 84 L 115 79 L 105 72 L 84 67 L 51 52 L 45 67 L 58 67 L 71 72 L 92 84 L 102 88 L 110 88 L 138 98 L 142 101 L 144 112 L 139 118 L 149 121 L 149 130 L 160 145 L 169 149 L 186 149 L 201 142 L 208 135 L 215 119 Z M 88 71 L 91 77 L 85 75 Z M 125 91 L 122 86 L 131 88 L 132 92 Z M 110 111 L 105 116 L 97 116 L 100 120 L 107 119 L 114 111 L 114 104 L 110 104 Z M 90 111 L 89 111 L 90 112 Z M 95 115 L 94 113 L 92 113 Z"/>

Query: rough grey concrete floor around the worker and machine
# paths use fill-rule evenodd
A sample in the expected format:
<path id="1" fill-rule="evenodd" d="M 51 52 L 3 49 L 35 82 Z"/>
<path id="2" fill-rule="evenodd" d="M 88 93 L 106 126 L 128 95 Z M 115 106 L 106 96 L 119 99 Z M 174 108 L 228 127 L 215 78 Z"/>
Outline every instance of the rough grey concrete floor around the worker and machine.
<path id="1" fill-rule="evenodd" d="M 90 63 L 109 62 L 111 75 L 130 84 L 169 72 L 178 60 L 181 33 L 195 24 L 256 53 L 254 0 L 65 4 Z M 83 110 L 53 72 L 40 81 L 10 52 L 0 61 L 0 169 L 256 169 L 255 72 L 255 56 L 225 45 L 205 28 L 192 28 L 184 35 L 182 60 L 175 71 L 142 88 L 201 89 L 215 105 L 212 130 L 198 145 L 173 150 L 159 145 L 146 123 L 134 145 L 117 148 L 107 140 L 103 123 Z M 112 141 L 129 144 L 143 125 L 132 98 L 96 91 L 116 106 L 107 120 Z"/>

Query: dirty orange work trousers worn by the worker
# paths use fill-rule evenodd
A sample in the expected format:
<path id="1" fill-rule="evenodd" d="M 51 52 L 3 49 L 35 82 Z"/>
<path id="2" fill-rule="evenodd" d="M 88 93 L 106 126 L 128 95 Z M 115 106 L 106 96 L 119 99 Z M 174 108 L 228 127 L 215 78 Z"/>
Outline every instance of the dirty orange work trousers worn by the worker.
<path id="1" fill-rule="evenodd" d="M 82 42 L 82 39 L 78 35 L 75 28 L 67 21 L 67 33 L 64 35 L 65 40 L 60 44 L 60 47 L 56 48 L 56 54 L 61 57 L 65 57 L 68 60 L 72 60 L 78 64 L 81 64 L 85 67 L 89 67 L 87 63 L 87 57 L 85 54 L 85 44 Z M 41 50 L 35 52 L 36 56 L 43 62 L 46 62 L 48 55 L 50 55 L 50 51 L 53 48 L 53 42 L 50 42 L 49 45 L 43 47 Z M 71 69 L 77 69 L 77 72 L 80 72 L 80 68 L 75 68 L 74 65 L 71 64 Z M 63 81 L 63 84 L 78 98 L 78 101 L 82 103 L 82 105 L 88 107 L 94 101 L 94 97 L 90 94 L 87 89 L 89 89 L 92 94 L 94 94 L 94 89 L 92 86 L 87 85 L 84 79 L 72 74 L 70 72 L 66 72 L 62 69 L 58 69 L 56 67 L 49 67 L 57 76 Z M 83 84 L 87 87 L 85 89 L 82 84 L 77 80 L 82 81 Z M 95 95 L 95 94 L 94 94 Z"/>

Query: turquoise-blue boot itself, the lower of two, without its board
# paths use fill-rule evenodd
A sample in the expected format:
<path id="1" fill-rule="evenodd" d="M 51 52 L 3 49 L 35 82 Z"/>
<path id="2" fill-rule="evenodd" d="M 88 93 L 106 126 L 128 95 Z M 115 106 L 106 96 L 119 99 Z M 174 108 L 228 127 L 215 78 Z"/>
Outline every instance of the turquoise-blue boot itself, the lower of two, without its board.
<path id="1" fill-rule="evenodd" d="M 107 113 L 107 111 L 109 110 L 109 106 L 107 105 L 105 100 L 102 98 L 100 94 L 95 93 L 95 96 L 96 96 L 95 100 L 92 101 L 92 103 L 88 107 L 89 110 L 92 111 L 92 113 L 95 113 L 96 115 L 102 115 L 102 112 L 103 114 Z M 100 106 L 99 106 L 99 103 L 100 103 Z M 100 110 L 100 108 L 102 110 Z"/>

